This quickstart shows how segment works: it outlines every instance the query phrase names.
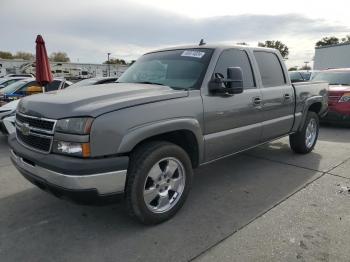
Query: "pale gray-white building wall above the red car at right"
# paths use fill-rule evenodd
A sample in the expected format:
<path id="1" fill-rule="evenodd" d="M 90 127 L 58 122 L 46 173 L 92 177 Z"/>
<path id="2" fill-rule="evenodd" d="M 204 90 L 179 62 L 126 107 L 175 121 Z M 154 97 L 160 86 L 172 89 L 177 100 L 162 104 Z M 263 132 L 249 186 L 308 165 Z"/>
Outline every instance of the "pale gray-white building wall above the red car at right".
<path id="1" fill-rule="evenodd" d="M 350 68 L 350 43 L 315 48 L 314 70 Z"/>

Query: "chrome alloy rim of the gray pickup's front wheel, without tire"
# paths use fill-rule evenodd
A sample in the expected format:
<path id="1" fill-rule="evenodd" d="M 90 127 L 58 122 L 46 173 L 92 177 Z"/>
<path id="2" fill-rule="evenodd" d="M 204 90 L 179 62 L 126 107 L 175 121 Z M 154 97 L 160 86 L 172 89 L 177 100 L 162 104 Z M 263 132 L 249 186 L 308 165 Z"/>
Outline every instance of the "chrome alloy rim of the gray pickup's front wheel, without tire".
<path id="1" fill-rule="evenodd" d="M 164 213 L 176 205 L 186 183 L 186 172 L 182 163 L 173 157 L 158 161 L 148 172 L 143 199 L 154 213 Z"/>

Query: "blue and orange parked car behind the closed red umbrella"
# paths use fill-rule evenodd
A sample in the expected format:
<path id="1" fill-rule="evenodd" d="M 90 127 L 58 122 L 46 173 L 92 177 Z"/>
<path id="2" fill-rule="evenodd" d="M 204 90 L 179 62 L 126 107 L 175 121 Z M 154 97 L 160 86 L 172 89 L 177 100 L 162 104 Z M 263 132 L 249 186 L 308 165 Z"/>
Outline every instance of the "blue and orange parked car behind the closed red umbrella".
<path id="1" fill-rule="evenodd" d="M 64 79 L 54 79 L 51 83 L 47 84 L 45 92 L 64 89 L 70 86 L 72 83 Z M 0 90 L 0 105 L 8 103 L 13 100 L 20 99 L 27 95 L 39 94 L 43 92 L 43 87 L 36 82 L 34 78 L 25 78 L 19 80 L 11 85 Z"/>

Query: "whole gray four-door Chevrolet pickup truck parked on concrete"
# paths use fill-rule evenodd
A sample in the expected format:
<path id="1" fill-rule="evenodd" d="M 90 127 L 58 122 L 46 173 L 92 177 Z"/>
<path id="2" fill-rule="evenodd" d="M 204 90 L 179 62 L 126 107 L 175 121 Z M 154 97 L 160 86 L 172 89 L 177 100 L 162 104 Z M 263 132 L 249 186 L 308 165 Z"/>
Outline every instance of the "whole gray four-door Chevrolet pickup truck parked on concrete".
<path id="1" fill-rule="evenodd" d="M 11 159 L 58 197 L 122 198 L 156 224 L 184 204 L 193 168 L 287 135 L 296 153 L 312 151 L 327 93 L 327 83 L 292 85 L 273 49 L 159 50 L 115 84 L 22 99 Z"/>

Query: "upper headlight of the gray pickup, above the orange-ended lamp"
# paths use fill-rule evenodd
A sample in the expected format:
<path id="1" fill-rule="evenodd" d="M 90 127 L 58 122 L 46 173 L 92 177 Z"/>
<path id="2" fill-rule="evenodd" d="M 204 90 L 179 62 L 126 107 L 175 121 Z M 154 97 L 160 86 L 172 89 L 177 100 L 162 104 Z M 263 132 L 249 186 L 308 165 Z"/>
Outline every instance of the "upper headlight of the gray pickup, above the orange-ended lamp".
<path id="1" fill-rule="evenodd" d="M 69 134 L 85 135 L 90 133 L 93 118 L 66 118 L 57 121 L 56 131 Z"/>

